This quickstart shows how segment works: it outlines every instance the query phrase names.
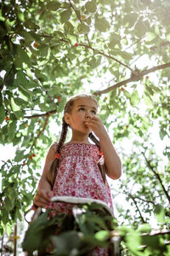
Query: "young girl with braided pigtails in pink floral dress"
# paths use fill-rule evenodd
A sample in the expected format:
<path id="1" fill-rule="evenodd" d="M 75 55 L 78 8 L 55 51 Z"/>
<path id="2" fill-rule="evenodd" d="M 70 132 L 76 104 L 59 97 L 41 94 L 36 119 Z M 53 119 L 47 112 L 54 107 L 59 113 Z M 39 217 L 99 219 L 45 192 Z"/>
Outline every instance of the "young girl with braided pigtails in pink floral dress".
<path id="1" fill-rule="evenodd" d="M 66 195 L 98 199 L 112 208 L 105 173 L 112 179 L 119 178 L 122 164 L 97 117 L 97 109 L 98 102 L 91 95 L 73 96 L 66 103 L 59 143 L 54 143 L 48 151 L 34 206 L 50 207 L 54 215 L 71 212 L 72 205 L 50 202 L 53 195 Z M 65 143 L 68 127 L 72 137 Z"/>

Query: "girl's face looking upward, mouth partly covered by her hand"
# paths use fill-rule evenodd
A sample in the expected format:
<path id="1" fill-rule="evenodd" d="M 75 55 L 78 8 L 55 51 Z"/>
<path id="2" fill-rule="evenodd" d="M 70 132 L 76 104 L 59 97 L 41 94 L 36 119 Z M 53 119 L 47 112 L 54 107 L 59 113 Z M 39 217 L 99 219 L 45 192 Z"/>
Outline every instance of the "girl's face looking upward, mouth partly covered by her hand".
<path id="1" fill-rule="evenodd" d="M 90 129 L 85 125 L 87 119 L 97 114 L 97 104 L 93 99 L 82 97 L 74 102 L 71 113 L 65 113 L 65 122 L 71 126 L 72 131 L 88 134 Z"/>

